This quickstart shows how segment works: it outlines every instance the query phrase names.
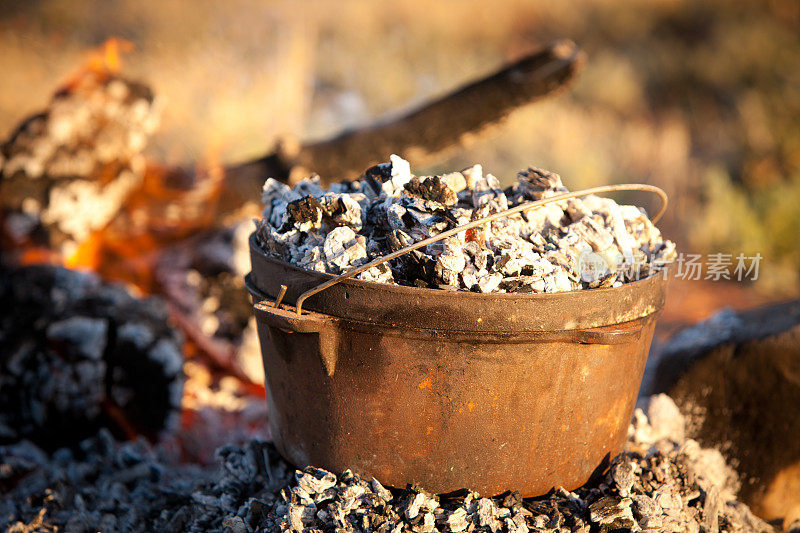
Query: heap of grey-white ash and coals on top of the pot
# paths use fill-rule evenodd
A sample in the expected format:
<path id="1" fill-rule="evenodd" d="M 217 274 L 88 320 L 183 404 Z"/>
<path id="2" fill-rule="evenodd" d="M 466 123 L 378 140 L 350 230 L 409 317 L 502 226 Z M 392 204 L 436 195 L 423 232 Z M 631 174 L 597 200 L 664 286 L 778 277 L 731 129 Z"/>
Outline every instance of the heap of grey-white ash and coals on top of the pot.
<path id="1" fill-rule="evenodd" d="M 529 168 L 505 190 L 480 165 L 414 176 L 408 162 L 370 168 L 325 190 L 316 177 L 264 185 L 257 239 L 275 257 L 340 274 L 409 244 L 521 203 L 567 192 L 561 178 Z M 560 292 L 616 287 L 675 257 L 647 214 L 597 196 L 496 220 L 373 267 L 361 279 L 446 290 Z"/>

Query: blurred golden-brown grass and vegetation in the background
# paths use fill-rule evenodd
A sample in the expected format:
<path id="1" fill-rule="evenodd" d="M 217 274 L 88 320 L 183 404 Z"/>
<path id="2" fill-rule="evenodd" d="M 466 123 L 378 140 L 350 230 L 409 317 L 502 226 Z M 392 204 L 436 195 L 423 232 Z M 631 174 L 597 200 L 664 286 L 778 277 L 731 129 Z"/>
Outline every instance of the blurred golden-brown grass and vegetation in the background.
<path id="1" fill-rule="evenodd" d="M 171 162 L 323 137 L 571 38 L 589 62 L 570 92 L 438 168 L 480 162 L 508 182 L 533 164 L 571 188 L 660 185 L 673 200 L 662 227 L 681 249 L 760 252 L 759 287 L 800 292 L 796 0 L 6 2 L 0 129 L 112 36 L 135 43 L 126 72 L 164 97 L 153 155 Z"/>

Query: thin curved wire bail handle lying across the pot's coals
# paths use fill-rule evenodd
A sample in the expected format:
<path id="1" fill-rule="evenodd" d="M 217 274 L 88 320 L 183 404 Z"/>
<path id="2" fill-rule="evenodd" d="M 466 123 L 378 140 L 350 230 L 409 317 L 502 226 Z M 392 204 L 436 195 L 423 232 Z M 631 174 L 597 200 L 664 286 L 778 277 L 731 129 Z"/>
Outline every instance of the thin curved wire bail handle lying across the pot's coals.
<path id="1" fill-rule="evenodd" d="M 330 287 L 333 287 L 337 283 L 340 283 L 340 282 L 342 282 L 342 281 L 344 281 L 346 279 L 352 278 L 353 276 L 357 276 L 358 274 L 360 274 L 360 273 L 362 273 L 362 272 L 364 272 L 366 270 L 369 270 L 372 267 L 375 267 L 375 266 L 378 266 L 378 265 L 382 265 L 383 263 L 386 263 L 387 261 L 391 261 L 392 259 L 397 259 L 398 257 L 400 257 L 400 256 L 402 256 L 404 254 L 407 254 L 408 252 L 412 252 L 414 250 L 418 250 L 420 248 L 428 246 L 429 244 L 433 244 L 433 243 L 438 242 L 438 241 L 440 241 L 442 239 L 446 239 L 447 237 L 452 237 L 453 235 L 461 233 L 462 231 L 466 231 L 466 230 L 469 230 L 469 229 L 472 229 L 472 228 L 475 228 L 475 227 L 478 227 L 478 226 L 482 226 L 482 225 L 487 224 L 489 222 L 494 222 L 495 220 L 499 220 L 501 218 L 505 218 L 507 216 L 510 216 L 510 215 L 513 215 L 513 214 L 516 214 L 516 213 L 521 213 L 522 211 L 527 211 L 529 209 L 535 209 L 537 207 L 542 207 L 543 205 L 551 204 L 553 202 L 560 202 L 562 200 L 569 200 L 570 198 L 578 198 L 580 196 L 588 196 L 590 194 L 605 193 L 605 192 L 615 192 L 615 191 L 645 191 L 645 192 L 651 192 L 651 193 L 657 195 L 661 199 L 661 207 L 658 210 L 658 212 L 655 214 L 655 216 L 653 216 L 653 218 L 650 219 L 653 222 L 653 224 L 658 222 L 661 219 L 661 217 L 664 215 L 664 212 L 667 210 L 667 204 L 669 202 L 669 198 L 667 197 L 667 193 L 664 192 L 663 189 L 661 189 L 659 187 L 656 187 L 655 185 L 647 185 L 647 184 L 644 184 L 644 183 L 622 183 L 622 184 L 619 184 L 619 185 L 601 185 L 599 187 L 590 187 L 588 189 L 582 189 L 580 191 L 572 191 L 572 192 L 561 193 L 561 194 L 557 194 L 555 196 L 551 196 L 549 198 L 543 198 L 541 200 L 533 200 L 533 201 L 530 201 L 530 202 L 525 202 L 525 203 L 519 204 L 517 206 L 514 206 L 514 207 L 512 207 L 510 209 L 506 209 L 505 211 L 499 211 L 497 213 L 494 213 L 492 215 L 480 218 L 478 220 L 472 220 L 470 222 L 467 222 L 466 224 L 462 224 L 461 226 L 457 226 L 455 228 L 452 228 L 452 229 L 449 229 L 449 230 L 444 231 L 442 233 L 439 233 L 438 235 L 434 235 L 433 237 L 428 237 L 427 239 L 423 239 L 423 240 L 421 240 L 419 242 L 416 242 L 414 244 L 410 244 L 410 245 L 406 246 L 405 248 L 397 250 L 396 252 L 392 252 L 390 254 L 381 256 L 381 257 L 379 257 L 377 259 L 374 259 L 374 260 L 370 261 L 369 263 L 363 264 L 363 265 L 358 266 L 358 267 L 351 268 L 350 270 L 348 270 L 344 274 L 340 274 L 339 276 L 336 276 L 333 279 L 330 279 L 330 280 L 328 280 L 328 281 L 326 281 L 324 283 L 321 283 L 321 284 L 317 285 L 316 287 L 313 287 L 313 288 L 307 290 L 306 292 L 304 292 L 303 294 L 301 294 L 297 298 L 297 303 L 295 304 L 295 308 L 297 310 L 297 315 L 300 316 L 300 315 L 303 314 L 303 302 L 305 302 L 310 296 L 314 296 L 315 294 L 317 294 L 319 292 L 322 292 L 325 289 L 329 289 Z M 273 304 L 275 307 L 279 307 L 280 306 L 281 302 L 283 301 L 283 297 L 286 295 L 286 290 L 287 290 L 286 285 L 281 285 L 280 293 L 278 294 L 278 297 L 275 299 L 275 303 Z"/>

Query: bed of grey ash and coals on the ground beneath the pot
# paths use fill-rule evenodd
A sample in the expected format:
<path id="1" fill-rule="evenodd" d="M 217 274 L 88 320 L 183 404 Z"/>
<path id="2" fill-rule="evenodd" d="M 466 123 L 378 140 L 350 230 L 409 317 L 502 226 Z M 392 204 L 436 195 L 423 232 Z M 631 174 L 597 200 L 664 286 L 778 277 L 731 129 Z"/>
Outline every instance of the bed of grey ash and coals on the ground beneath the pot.
<path id="1" fill-rule="evenodd" d="M 683 434 L 675 404 L 654 397 L 605 477 L 536 499 L 435 496 L 352 472 L 293 472 L 260 442 L 221 448 L 215 471 L 106 432 L 52 456 L 22 442 L 0 447 L 0 521 L 17 532 L 775 531 L 736 500 L 720 453 Z"/>

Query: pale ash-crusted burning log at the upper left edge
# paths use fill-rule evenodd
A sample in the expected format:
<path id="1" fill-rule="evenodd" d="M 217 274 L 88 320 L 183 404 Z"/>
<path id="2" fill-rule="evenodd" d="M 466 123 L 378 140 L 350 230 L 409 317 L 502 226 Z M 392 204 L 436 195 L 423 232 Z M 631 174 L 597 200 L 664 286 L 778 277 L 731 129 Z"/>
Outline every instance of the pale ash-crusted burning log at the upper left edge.
<path id="1" fill-rule="evenodd" d="M 145 85 L 105 71 L 76 76 L 0 146 L 4 247 L 74 253 L 141 184 L 158 122 Z"/>

